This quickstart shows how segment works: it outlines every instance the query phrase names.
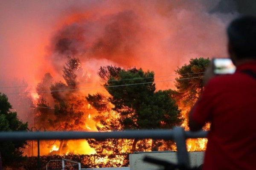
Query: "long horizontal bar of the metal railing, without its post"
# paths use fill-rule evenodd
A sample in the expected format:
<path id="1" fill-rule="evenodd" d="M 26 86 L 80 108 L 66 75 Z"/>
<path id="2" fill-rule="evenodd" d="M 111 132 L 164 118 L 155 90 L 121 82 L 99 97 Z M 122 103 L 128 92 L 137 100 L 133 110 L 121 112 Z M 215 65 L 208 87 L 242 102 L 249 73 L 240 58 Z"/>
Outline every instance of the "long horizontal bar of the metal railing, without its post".
<path id="1" fill-rule="evenodd" d="M 205 138 L 206 131 L 185 131 L 185 138 Z M 113 132 L 0 132 L 0 141 L 51 139 L 173 139 L 173 130 L 124 130 Z"/>

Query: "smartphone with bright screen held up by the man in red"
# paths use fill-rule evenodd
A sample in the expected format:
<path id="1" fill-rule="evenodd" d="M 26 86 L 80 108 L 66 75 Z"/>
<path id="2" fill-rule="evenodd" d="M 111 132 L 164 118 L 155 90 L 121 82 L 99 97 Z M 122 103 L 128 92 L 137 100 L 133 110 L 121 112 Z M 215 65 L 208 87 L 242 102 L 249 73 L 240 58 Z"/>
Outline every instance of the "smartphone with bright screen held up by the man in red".
<path id="1" fill-rule="evenodd" d="M 214 74 L 233 74 L 236 71 L 236 66 L 230 58 L 214 58 L 213 73 Z"/>

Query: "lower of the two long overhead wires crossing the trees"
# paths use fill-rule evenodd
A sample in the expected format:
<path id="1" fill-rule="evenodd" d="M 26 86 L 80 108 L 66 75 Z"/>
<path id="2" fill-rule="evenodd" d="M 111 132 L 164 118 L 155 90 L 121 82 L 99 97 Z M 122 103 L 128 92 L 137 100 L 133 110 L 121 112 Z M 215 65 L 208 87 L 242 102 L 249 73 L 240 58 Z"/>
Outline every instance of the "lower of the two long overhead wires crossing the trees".
<path id="1" fill-rule="evenodd" d="M 176 79 L 176 80 L 184 80 L 184 79 L 194 79 L 194 78 L 201 78 L 200 77 L 189 77 L 189 78 L 183 78 L 183 79 Z M 175 81 L 175 80 L 163 80 L 163 81 L 157 81 L 157 82 L 170 82 L 170 81 Z M 78 91 L 78 90 L 89 90 L 89 89 L 97 89 L 97 88 L 113 88 L 113 87 L 121 87 L 121 86 L 129 86 L 129 85 L 142 85 L 142 84 L 150 84 L 150 83 L 156 83 L 156 82 L 142 82 L 142 83 L 133 83 L 133 84 L 127 84 L 127 85 L 112 85 L 112 86 L 107 86 L 107 87 L 93 87 L 93 88 L 74 88 L 74 89 L 64 89 L 64 90 L 55 90 L 55 91 L 39 91 L 39 93 L 49 93 L 49 92 L 58 92 L 58 91 Z M 9 93 L 6 95 L 11 95 L 11 94 L 32 94 L 32 93 L 38 93 L 38 92 L 23 92 L 23 93 Z"/>

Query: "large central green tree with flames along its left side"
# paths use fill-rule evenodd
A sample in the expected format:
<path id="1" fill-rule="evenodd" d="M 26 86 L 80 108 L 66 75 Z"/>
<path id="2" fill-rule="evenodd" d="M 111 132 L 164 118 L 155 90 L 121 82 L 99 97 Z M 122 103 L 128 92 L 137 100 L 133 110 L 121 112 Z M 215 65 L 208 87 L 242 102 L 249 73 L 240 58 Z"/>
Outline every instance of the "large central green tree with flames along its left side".
<path id="1" fill-rule="evenodd" d="M 180 125 L 180 110 L 172 99 L 172 90 L 156 91 L 154 72 L 144 72 L 142 69 L 128 70 L 106 66 L 99 69 L 98 75 L 104 82 L 104 87 L 110 95 L 88 95 L 87 101 L 101 113 L 111 110 L 115 115 L 108 118 L 105 114 L 96 117 L 100 119 L 99 131 L 125 129 L 159 129 L 172 128 Z M 112 107 L 111 109 L 110 106 Z M 163 140 L 121 140 L 108 141 L 90 140 L 89 144 L 102 153 L 103 148 L 114 153 L 120 153 L 126 145 L 126 151 L 172 149 L 172 142 Z M 102 144 L 104 147 L 97 145 Z M 118 149 L 119 148 L 119 149 Z"/>

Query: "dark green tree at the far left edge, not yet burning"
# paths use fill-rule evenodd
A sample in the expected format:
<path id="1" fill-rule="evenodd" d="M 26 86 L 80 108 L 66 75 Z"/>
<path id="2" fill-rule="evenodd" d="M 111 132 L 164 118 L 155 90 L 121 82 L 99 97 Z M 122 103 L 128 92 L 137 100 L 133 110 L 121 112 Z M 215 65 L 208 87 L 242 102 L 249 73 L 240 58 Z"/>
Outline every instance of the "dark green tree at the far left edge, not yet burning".
<path id="1" fill-rule="evenodd" d="M 0 93 L 0 131 L 26 131 L 27 123 L 23 123 L 12 112 L 12 105 L 8 102 L 8 97 Z M 26 147 L 26 141 L 0 142 L 0 152 L 3 165 L 11 165 L 13 160 L 18 162 L 22 159 L 22 149 Z"/>

